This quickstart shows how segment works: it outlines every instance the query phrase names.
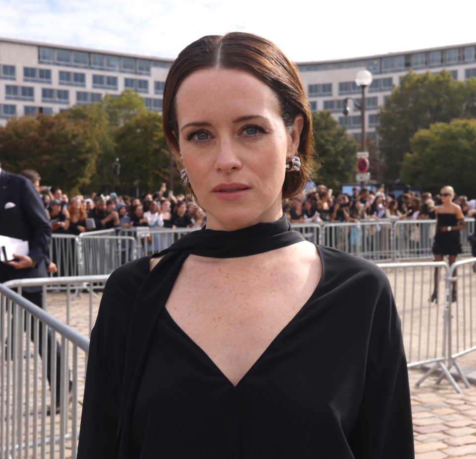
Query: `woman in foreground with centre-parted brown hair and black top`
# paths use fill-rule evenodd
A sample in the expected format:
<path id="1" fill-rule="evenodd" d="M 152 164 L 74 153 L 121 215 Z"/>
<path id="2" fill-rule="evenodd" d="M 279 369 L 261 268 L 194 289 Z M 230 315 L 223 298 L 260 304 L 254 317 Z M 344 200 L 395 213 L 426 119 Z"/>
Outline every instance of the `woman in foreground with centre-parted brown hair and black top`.
<path id="1" fill-rule="evenodd" d="M 295 65 L 251 34 L 204 37 L 172 64 L 163 101 L 207 227 L 111 275 L 78 458 L 413 457 L 386 276 L 283 215 L 313 143 Z"/>

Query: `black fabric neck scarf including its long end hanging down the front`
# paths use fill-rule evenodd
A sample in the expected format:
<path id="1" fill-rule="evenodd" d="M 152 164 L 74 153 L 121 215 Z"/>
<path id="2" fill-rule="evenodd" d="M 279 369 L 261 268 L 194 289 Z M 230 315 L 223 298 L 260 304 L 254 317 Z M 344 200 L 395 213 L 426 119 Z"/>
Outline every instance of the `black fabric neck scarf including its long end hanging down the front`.
<path id="1" fill-rule="evenodd" d="M 130 422 L 135 394 L 147 359 L 160 312 L 169 298 L 188 255 L 234 258 L 262 254 L 305 241 L 293 231 L 286 215 L 270 223 L 258 223 L 237 231 L 192 231 L 152 257 L 163 256 L 140 287 L 132 311 L 124 362 L 120 422 L 114 458 L 128 458 Z M 185 295 L 184 295 L 185 297 Z"/>

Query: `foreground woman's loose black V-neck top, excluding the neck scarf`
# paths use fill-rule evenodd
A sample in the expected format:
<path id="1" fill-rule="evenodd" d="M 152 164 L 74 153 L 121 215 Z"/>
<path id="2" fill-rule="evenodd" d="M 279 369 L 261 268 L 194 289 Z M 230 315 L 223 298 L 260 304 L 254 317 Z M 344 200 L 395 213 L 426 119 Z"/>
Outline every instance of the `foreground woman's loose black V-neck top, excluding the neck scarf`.
<path id="1" fill-rule="evenodd" d="M 319 285 L 236 387 L 165 307 L 140 369 L 127 374 L 134 299 L 164 260 L 151 273 L 150 257 L 116 270 L 91 334 L 78 458 L 413 458 L 407 365 L 386 276 L 353 255 L 318 250 Z M 128 410 L 118 406 L 124 396 Z M 122 430 L 121 412 L 129 412 Z M 119 453 L 118 432 L 127 436 Z"/>

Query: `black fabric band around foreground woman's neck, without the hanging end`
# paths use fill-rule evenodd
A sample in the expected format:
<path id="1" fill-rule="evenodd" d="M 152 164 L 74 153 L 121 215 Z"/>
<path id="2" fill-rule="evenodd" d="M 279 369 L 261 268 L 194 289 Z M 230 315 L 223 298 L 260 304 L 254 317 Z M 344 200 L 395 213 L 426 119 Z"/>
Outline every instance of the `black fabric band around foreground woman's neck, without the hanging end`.
<path id="1" fill-rule="evenodd" d="M 171 252 L 188 252 L 193 255 L 215 258 L 233 258 L 262 254 L 305 241 L 301 233 L 293 231 L 286 215 L 276 221 L 258 223 L 236 231 L 202 229 L 192 231 L 169 248 L 152 256 Z"/>

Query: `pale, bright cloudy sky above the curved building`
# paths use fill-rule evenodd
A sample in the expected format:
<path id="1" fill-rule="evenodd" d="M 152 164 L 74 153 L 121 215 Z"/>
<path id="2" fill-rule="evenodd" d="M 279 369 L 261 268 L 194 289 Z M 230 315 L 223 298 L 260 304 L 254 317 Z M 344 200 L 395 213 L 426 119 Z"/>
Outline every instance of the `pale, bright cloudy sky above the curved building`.
<path id="1" fill-rule="evenodd" d="M 0 0 L 0 38 L 175 58 L 251 32 L 295 62 L 476 42 L 474 0 Z"/>

